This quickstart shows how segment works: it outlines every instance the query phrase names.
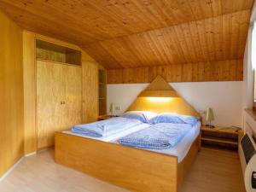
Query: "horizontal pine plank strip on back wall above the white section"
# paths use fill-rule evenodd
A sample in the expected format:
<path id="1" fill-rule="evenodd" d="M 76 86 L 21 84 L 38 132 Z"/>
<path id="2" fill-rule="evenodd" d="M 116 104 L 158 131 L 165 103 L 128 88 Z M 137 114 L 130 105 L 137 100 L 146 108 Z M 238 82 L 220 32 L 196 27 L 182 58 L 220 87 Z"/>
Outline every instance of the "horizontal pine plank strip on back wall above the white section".
<path id="1" fill-rule="evenodd" d="M 167 82 L 241 81 L 242 65 L 242 60 L 232 60 L 113 69 L 108 70 L 108 84 L 150 83 L 157 75 Z"/>

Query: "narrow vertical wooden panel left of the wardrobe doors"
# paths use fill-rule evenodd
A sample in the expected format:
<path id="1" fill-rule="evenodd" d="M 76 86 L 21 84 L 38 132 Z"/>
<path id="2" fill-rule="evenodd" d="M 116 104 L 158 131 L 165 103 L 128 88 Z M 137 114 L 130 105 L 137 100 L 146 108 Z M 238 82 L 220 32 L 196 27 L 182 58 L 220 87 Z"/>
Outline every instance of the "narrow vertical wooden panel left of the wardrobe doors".
<path id="1" fill-rule="evenodd" d="M 23 32 L 24 152 L 37 150 L 35 34 Z"/>

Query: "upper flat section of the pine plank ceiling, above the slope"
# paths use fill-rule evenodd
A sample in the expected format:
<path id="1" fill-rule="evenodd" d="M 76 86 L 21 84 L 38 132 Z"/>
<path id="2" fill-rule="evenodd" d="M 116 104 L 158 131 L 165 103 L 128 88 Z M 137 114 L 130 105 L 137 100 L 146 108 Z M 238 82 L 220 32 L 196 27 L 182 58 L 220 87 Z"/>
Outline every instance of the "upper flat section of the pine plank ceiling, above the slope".
<path id="1" fill-rule="evenodd" d="M 29 6 L 28 6 L 29 5 Z M 137 2 L 32 2 L 2 0 L 0 8 L 27 30 L 48 33 L 73 43 L 87 44 L 106 38 L 202 20 L 252 9 L 253 0 Z M 63 15 L 62 13 L 66 13 Z M 21 15 L 21 16 L 20 16 Z M 63 30 L 59 30 L 59 29 Z"/>

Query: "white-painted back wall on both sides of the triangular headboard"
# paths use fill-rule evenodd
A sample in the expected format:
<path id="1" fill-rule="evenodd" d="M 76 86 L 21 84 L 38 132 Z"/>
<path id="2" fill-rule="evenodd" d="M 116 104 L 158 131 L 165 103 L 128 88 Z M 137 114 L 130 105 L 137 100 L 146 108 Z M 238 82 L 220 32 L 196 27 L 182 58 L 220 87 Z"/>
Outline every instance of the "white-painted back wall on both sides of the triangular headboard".
<path id="1" fill-rule="evenodd" d="M 108 108 L 111 102 L 123 113 L 148 84 L 108 84 Z M 213 108 L 214 125 L 241 126 L 242 82 L 171 83 L 197 111 Z M 109 109 L 108 109 L 109 110 Z"/>

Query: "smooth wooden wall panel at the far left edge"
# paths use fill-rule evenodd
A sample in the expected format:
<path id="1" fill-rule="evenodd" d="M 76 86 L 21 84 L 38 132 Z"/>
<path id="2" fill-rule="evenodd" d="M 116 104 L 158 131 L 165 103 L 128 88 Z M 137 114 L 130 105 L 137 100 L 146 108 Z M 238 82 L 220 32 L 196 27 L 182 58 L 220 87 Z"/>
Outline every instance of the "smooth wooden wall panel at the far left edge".
<path id="1" fill-rule="evenodd" d="M 0 11 L 0 176 L 24 154 L 22 30 Z"/>

